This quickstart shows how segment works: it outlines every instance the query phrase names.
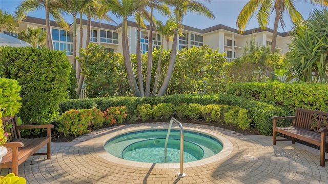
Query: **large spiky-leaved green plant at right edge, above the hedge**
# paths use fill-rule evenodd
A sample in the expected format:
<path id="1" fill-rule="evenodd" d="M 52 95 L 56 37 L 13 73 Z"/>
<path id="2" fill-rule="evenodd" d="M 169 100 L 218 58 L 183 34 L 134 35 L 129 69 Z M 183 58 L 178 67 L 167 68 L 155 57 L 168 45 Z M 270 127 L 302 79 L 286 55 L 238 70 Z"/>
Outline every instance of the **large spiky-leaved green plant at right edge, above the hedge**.
<path id="1" fill-rule="evenodd" d="M 308 21 L 297 24 L 291 32 L 289 70 L 297 81 L 327 82 L 328 11 L 314 10 Z"/>

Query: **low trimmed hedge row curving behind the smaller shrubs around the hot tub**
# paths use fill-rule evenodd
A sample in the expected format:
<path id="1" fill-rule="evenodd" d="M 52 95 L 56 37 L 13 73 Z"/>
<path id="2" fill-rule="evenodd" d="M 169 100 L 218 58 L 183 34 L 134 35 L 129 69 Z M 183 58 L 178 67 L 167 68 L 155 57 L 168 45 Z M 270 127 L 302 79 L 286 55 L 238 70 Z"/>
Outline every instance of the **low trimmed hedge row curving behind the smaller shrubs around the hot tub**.
<path id="1" fill-rule="evenodd" d="M 101 111 L 106 110 L 109 107 L 126 106 L 128 113 L 133 114 L 138 105 L 150 104 L 157 105 L 160 103 L 171 103 L 177 106 L 182 103 L 186 104 L 220 104 L 229 106 L 238 106 L 249 111 L 252 119 L 252 125 L 260 131 L 262 135 L 272 135 L 272 116 L 290 116 L 292 113 L 289 109 L 263 103 L 256 100 L 250 100 L 234 95 L 217 94 L 217 95 L 168 95 L 161 97 L 104 97 L 104 98 L 91 98 L 84 100 L 66 100 L 59 105 L 60 113 L 66 112 L 70 109 L 86 109 L 96 108 Z M 132 120 L 132 119 L 130 119 Z M 282 122 L 278 122 L 278 126 L 282 125 Z"/>

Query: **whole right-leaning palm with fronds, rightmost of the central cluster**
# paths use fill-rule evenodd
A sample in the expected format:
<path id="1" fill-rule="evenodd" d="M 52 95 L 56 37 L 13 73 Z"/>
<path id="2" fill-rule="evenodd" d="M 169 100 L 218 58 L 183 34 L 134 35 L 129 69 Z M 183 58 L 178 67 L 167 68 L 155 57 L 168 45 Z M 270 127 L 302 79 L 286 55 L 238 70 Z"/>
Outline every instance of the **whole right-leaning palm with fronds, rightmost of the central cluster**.
<path id="1" fill-rule="evenodd" d="M 210 1 L 208 2 L 211 3 Z M 176 25 L 178 25 L 178 27 L 182 22 L 183 16 L 185 16 L 188 11 L 195 14 L 207 16 L 211 19 L 215 18 L 212 11 L 210 11 L 204 4 L 196 0 L 171 0 L 171 1 L 166 1 L 166 3 L 173 8 L 173 11 L 175 13 L 175 23 Z M 158 91 L 157 96 L 164 95 L 166 89 L 168 88 L 171 75 L 173 73 L 177 38 L 178 38 L 178 27 L 174 29 L 173 43 L 172 43 L 171 55 L 169 59 L 168 70 L 163 80 L 163 84 Z"/>

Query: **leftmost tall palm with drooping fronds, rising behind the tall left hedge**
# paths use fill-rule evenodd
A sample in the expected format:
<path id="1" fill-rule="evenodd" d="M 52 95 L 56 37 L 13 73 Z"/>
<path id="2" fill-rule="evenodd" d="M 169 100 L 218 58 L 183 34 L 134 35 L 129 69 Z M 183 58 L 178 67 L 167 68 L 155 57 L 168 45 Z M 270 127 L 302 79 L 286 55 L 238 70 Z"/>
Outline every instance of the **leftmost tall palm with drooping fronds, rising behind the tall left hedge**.
<path id="1" fill-rule="evenodd" d="M 24 0 L 20 2 L 16 8 L 16 17 L 18 21 L 22 21 L 25 18 L 25 14 L 34 12 L 40 9 L 45 9 L 46 12 L 46 46 L 48 49 L 53 50 L 52 36 L 50 32 L 50 18 L 49 15 L 59 24 L 59 26 L 68 30 L 68 24 L 65 22 L 63 16 L 61 16 L 58 9 L 58 3 L 56 0 Z"/>

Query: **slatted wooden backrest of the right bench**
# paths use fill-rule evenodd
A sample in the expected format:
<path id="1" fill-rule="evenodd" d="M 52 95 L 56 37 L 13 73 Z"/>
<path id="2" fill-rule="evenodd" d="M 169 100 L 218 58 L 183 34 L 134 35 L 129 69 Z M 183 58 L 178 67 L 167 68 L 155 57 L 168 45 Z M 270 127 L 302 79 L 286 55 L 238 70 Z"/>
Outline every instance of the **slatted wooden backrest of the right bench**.
<path id="1" fill-rule="evenodd" d="M 318 132 L 320 128 L 328 128 L 328 112 L 297 108 L 294 127 Z"/>

